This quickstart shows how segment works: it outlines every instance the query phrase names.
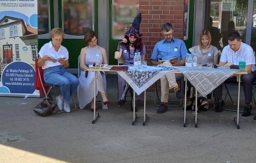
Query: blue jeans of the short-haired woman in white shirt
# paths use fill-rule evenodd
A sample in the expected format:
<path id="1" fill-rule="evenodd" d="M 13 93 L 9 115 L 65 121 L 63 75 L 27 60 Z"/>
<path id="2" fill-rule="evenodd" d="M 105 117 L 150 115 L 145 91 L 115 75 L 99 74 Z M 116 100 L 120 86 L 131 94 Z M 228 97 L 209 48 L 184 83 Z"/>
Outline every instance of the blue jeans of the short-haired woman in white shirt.
<path id="1" fill-rule="evenodd" d="M 67 72 L 66 68 L 62 65 L 44 69 L 44 79 L 48 84 L 58 85 L 66 101 L 70 101 L 72 92 L 79 84 L 78 79 Z"/>

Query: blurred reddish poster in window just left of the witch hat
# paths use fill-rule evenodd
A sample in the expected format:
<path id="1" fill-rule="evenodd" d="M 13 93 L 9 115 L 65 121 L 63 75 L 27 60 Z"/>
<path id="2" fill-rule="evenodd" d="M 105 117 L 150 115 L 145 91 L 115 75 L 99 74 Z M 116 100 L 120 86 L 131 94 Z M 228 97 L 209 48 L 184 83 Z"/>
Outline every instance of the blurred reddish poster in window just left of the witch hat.
<path id="1" fill-rule="evenodd" d="M 139 0 L 113 0 L 112 4 L 112 39 L 122 39 L 139 12 Z"/>

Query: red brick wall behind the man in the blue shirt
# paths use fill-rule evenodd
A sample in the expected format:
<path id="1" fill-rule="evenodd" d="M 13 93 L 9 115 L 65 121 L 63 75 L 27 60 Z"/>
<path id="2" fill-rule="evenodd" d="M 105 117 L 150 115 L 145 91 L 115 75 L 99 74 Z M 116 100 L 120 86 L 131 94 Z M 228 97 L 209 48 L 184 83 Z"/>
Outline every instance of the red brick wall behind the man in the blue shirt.
<path id="1" fill-rule="evenodd" d="M 139 10 L 142 14 L 140 32 L 146 45 L 145 58 L 150 63 L 155 44 L 163 39 L 162 24 L 170 22 L 174 27 L 174 37 L 183 39 L 184 0 L 140 0 Z M 160 85 L 158 87 L 160 88 Z M 149 88 L 149 91 L 153 90 L 155 90 L 154 84 Z"/>

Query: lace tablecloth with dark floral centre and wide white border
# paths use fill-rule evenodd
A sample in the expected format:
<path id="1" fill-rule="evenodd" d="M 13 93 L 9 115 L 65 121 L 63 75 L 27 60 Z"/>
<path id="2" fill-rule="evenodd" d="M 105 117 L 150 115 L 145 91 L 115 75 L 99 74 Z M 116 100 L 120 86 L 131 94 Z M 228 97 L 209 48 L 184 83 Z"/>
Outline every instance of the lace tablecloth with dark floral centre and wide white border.
<path id="1" fill-rule="evenodd" d="M 136 94 L 140 95 L 166 73 L 183 69 L 184 67 L 172 66 L 146 66 L 134 69 L 133 66 L 129 66 L 127 71 L 117 71 L 117 73 L 135 90 Z"/>

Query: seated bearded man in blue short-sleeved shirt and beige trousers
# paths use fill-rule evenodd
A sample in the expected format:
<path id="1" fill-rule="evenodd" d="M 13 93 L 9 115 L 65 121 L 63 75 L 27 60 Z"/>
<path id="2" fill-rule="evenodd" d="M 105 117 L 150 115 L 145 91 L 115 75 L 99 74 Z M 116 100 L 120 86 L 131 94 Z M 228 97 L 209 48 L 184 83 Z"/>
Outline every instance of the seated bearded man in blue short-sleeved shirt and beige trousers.
<path id="1" fill-rule="evenodd" d="M 166 23 L 162 26 L 163 40 L 156 43 L 151 56 L 151 62 L 153 65 L 167 65 L 167 66 L 182 66 L 185 65 L 185 59 L 187 55 L 187 48 L 183 40 L 173 37 L 173 26 L 170 23 Z M 177 60 L 172 61 L 160 61 L 169 60 L 177 57 Z M 184 94 L 181 92 L 176 79 L 180 79 L 181 74 L 175 75 L 167 73 L 161 78 L 161 104 L 157 110 L 157 113 L 164 113 L 167 110 L 167 102 L 169 96 L 169 89 L 174 89 L 176 97 L 181 99 Z"/>

